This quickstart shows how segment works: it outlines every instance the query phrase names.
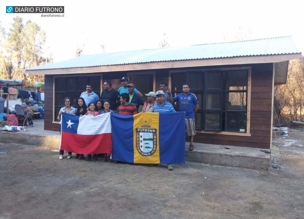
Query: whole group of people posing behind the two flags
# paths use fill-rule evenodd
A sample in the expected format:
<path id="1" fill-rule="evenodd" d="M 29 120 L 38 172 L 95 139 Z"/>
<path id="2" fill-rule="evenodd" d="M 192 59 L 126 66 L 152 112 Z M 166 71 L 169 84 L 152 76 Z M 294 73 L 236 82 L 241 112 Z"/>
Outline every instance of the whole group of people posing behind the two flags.
<path id="1" fill-rule="evenodd" d="M 99 115 L 103 113 L 115 112 L 121 115 L 135 115 L 138 113 L 138 108 L 143 105 L 143 112 L 155 112 L 155 113 L 170 113 L 175 112 L 172 103 L 178 101 L 179 111 L 185 112 L 185 125 L 187 135 L 190 137 L 189 150 L 193 150 L 193 137 L 195 133 L 194 115 L 199 109 L 199 102 L 194 94 L 190 92 L 190 85 L 188 83 L 183 84 L 183 93 L 173 97 L 170 88 L 165 81 L 160 82 L 160 90 L 156 93 L 151 91 L 147 94 L 147 101 L 144 101 L 143 94 L 139 92 L 135 85 L 129 83 L 127 77 L 123 77 L 121 80 L 122 87 L 118 89 L 112 89 L 112 83 L 106 81 L 103 84 L 104 90 L 101 93 L 101 99 L 93 91 L 93 85 L 87 84 L 86 91 L 81 93 L 77 99 L 76 108 L 71 106 L 71 98 L 66 97 L 64 99 L 64 107 L 59 111 L 57 119 L 61 123 L 61 114 L 69 113 L 73 115 Z M 102 109 L 103 104 L 103 109 Z M 118 107 L 118 108 L 117 108 Z M 64 151 L 59 151 L 59 159 L 63 159 Z M 87 161 L 95 161 L 97 157 L 102 155 L 87 155 Z M 72 152 L 68 152 L 67 159 L 72 158 Z M 84 159 L 84 155 L 76 154 L 75 158 Z M 104 154 L 102 162 L 111 162 L 109 155 Z M 115 163 L 118 163 L 117 161 Z M 173 170 L 173 166 L 168 164 L 168 170 Z"/>

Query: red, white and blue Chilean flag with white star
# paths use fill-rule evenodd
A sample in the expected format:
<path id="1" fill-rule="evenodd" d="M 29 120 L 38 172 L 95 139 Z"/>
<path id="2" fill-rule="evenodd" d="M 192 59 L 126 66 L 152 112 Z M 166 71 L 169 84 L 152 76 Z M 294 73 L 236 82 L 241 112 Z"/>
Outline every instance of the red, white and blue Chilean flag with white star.
<path id="1" fill-rule="evenodd" d="M 60 149 L 77 154 L 111 154 L 110 114 L 73 116 L 62 113 Z"/>

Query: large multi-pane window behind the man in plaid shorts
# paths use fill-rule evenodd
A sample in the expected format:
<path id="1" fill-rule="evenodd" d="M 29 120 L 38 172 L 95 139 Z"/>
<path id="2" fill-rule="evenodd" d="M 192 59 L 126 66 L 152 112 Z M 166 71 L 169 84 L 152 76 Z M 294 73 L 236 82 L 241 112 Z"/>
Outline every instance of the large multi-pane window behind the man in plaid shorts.
<path id="1" fill-rule="evenodd" d="M 173 96 L 188 82 L 199 101 L 196 130 L 246 133 L 248 70 L 172 72 L 171 78 Z"/>

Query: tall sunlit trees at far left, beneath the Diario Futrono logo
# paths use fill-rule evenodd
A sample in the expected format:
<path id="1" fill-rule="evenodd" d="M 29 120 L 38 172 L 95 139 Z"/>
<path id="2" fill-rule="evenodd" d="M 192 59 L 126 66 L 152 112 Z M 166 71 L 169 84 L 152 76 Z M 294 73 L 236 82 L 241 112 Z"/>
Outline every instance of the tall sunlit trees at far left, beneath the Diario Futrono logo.
<path id="1" fill-rule="evenodd" d="M 3 51 L 0 54 L 0 77 L 43 82 L 43 75 L 27 76 L 24 71 L 25 68 L 52 62 L 52 57 L 43 57 L 46 34 L 40 26 L 31 20 L 24 25 L 23 19 L 16 16 L 8 33 L 0 23 L 0 38 L 0 47 Z"/>

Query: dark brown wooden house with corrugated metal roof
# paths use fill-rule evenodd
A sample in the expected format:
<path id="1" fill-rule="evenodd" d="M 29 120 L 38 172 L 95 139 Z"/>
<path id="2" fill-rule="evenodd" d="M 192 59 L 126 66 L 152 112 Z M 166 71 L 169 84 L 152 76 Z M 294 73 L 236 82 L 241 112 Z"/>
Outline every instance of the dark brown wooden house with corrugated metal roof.
<path id="1" fill-rule="evenodd" d="M 269 149 L 274 86 L 286 83 L 288 61 L 301 55 L 286 36 L 85 55 L 26 73 L 45 75 L 45 130 L 59 130 L 65 97 L 75 105 L 88 82 L 100 96 L 105 81 L 118 89 L 126 76 L 143 94 L 159 90 L 160 81 L 173 95 L 189 83 L 199 100 L 194 142 Z"/>

